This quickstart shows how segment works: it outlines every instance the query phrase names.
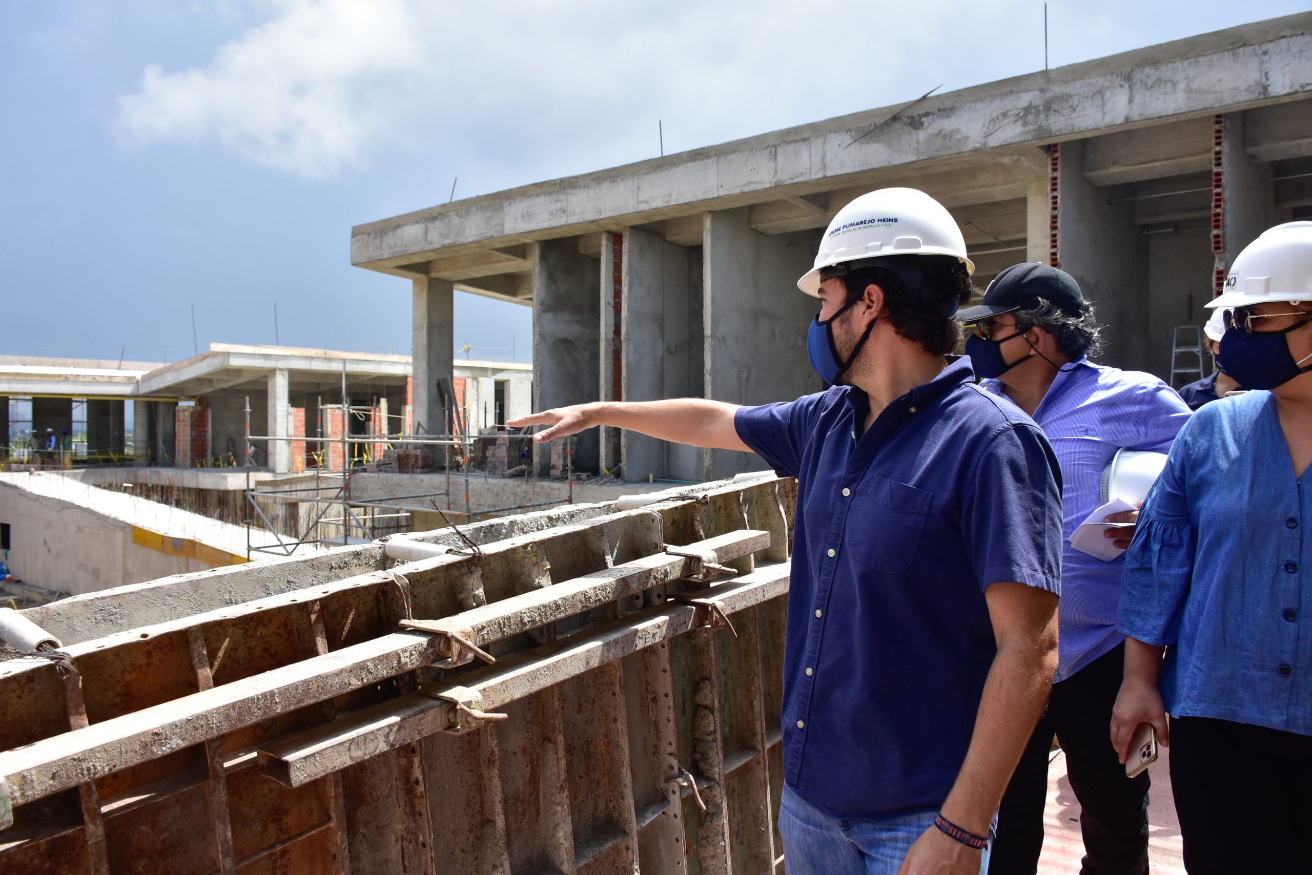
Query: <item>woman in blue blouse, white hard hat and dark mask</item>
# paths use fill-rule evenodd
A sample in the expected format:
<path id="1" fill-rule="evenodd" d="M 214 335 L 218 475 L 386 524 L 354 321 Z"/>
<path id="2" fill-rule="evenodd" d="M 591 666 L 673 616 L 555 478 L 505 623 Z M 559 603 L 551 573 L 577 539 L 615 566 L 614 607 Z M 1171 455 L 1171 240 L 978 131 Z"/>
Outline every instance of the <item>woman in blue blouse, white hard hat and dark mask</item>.
<path id="1" fill-rule="evenodd" d="M 1120 589 L 1126 668 L 1111 743 L 1124 761 L 1144 723 L 1173 743 L 1191 875 L 1305 872 L 1312 222 L 1253 241 L 1225 289 L 1208 304 L 1225 311 L 1221 358 L 1254 391 L 1194 415 L 1144 502 Z"/>

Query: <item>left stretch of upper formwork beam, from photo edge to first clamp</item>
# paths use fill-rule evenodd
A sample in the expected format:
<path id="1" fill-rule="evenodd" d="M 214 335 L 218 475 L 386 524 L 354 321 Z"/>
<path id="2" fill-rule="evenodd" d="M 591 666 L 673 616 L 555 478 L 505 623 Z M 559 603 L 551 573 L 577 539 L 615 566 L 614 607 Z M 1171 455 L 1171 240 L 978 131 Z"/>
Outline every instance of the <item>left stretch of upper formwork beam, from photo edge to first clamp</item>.
<path id="1" fill-rule="evenodd" d="M 0 753 L 14 804 L 377 683 L 440 659 L 437 640 L 395 632 Z"/>

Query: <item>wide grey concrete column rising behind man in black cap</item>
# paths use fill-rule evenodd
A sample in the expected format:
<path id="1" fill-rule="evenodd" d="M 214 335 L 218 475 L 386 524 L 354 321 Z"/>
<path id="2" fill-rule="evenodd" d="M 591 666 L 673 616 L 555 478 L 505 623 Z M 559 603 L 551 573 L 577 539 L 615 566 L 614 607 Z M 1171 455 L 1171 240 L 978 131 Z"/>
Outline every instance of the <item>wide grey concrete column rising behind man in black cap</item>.
<path id="1" fill-rule="evenodd" d="M 1106 327 L 1101 361 L 1152 370 L 1148 247 L 1134 223 L 1130 186 L 1096 188 L 1084 176 L 1084 143 L 1061 144 L 1057 258 Z"/>

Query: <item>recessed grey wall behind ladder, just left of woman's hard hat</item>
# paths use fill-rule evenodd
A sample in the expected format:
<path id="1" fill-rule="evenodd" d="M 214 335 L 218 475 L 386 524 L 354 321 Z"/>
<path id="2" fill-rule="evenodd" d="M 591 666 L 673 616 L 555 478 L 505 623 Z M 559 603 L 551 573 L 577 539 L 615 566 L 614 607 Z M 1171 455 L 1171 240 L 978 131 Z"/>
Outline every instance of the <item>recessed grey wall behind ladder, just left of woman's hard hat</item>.
<path id="1" fill-rule="evenodd" d="M 1212 247 L 1206 220 L 1148 235 L 1148 367 L 1144 370 L 1169 382 L 1172 329 L 1190 324 L 1200 328 L 1211 314 L 1203 310 L 1211 296 Z M 1179 359 L 1182 365 L 1193 362 L 1189 356 Z M 1204 356 L 1203 371 L 1210 367 Z"/>

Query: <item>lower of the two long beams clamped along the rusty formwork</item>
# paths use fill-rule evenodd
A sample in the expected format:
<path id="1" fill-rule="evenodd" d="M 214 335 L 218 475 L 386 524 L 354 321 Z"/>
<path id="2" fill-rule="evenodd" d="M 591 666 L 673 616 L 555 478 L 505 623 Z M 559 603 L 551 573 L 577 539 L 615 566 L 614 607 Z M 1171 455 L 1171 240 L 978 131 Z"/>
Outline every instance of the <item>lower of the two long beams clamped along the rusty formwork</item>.
<path id="1" fill-rule="evenodd" d="M 743 577 L 711 586 L 697 596 L 715 598 L 733 613 L 787 592 L 790 565 L 766 565 Z M 497 710 L 569 677 L 613 660 L 659 644 L 695 627 L 697 610 L 670 605 L 646 614 L 630 614 L 577 638 L 552 641 L 517 653 L 496 665 L 461 676 L 461 687 L 483 698 L 484 710 Z M 666 676 L 668 682 L 668 676 Z M 430 693 L 454 693 L 434 689 Z M 413 744 L 454 723 L 453 706 L 422 694 L 401 695 L 375 706 L 342 715 L 260 746 L 264 774 L 299 787 L 394 748 Z M 676 775 L 677 777 L 677 775 Z"/>

